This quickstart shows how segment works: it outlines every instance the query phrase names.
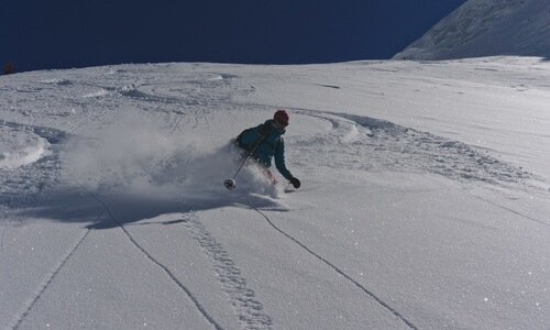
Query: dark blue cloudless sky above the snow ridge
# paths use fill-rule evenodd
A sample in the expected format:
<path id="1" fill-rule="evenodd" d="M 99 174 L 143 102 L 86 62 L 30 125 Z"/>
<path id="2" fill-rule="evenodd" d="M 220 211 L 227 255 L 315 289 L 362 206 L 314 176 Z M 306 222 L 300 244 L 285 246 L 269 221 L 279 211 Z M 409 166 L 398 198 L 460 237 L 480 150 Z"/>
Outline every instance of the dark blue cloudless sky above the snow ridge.
<path id="1" fill-rule="evenodd" d="M 7 0 L 0 65 L 385 59 L 465 0 Z"/>

